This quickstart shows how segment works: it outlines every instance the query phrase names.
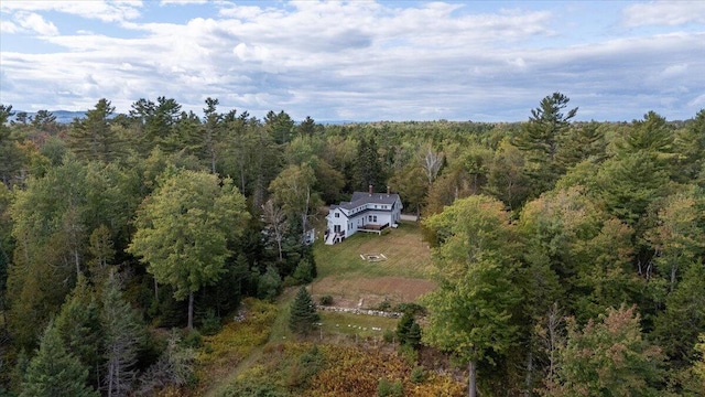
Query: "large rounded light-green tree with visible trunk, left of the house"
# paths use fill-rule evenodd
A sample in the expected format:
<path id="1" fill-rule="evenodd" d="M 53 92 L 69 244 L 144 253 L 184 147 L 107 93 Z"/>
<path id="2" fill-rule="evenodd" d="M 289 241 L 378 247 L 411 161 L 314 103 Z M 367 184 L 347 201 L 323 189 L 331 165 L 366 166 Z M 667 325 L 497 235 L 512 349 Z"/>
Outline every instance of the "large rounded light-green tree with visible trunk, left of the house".
<path id="1" fill-rule="evenodd" d="M 128 251 L 142 257 L 158 282 L 188 298 L 193 329 L 194 292 L 214 283 L 231 255 L 228 242 L 245 228 L 245 197 L 230 179 L 195 171 L 164 175 L 140 206 Z"/>

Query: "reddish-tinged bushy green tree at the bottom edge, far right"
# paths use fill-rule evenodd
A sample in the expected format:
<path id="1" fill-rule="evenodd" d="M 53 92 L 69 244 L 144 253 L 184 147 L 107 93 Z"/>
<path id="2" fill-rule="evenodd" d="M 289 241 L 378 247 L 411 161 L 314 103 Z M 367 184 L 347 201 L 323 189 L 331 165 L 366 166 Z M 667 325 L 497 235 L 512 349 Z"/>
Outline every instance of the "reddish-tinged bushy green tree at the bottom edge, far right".
<path id="1" fill-rule="evenodd" d="M 647 342 L 633 308 L 608 309 L 582 330 L 568 319 L 547 396 L 659 396 L 663 356 Z"/>

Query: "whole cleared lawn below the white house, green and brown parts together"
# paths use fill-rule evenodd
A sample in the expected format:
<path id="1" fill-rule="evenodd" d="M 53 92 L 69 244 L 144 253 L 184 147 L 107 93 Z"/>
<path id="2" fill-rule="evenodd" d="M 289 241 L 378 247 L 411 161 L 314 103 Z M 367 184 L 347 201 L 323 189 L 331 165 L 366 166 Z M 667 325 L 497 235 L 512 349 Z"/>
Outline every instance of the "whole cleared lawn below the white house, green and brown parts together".
<path id="1" fill-rule="evenodd" d="M 387 234 L 357 233 L 343 243 L 318 243 L 314 253 L 318 278 L 312 286 L 315 299 L 329 294 L 334 305 L 375 308 L 413 302 L 431 291 L 431 251 L 415 223 L 402 223 Z M 377 261 L 362 259 L 377 256 Z"/>

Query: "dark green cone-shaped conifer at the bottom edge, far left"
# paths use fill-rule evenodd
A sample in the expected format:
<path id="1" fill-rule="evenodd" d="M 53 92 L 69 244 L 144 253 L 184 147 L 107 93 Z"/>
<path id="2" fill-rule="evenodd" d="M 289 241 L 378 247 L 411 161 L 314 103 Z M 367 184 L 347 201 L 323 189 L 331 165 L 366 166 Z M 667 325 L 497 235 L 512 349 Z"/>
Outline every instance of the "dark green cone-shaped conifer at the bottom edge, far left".
<path id="1" fill-rule="evenodd" d="M 22 382 L 21 397 L 98 396 L 86 386 L 88 368 L 64 347 L 53 322 L 46 326 L 40 348 L 30 362 Z"/>

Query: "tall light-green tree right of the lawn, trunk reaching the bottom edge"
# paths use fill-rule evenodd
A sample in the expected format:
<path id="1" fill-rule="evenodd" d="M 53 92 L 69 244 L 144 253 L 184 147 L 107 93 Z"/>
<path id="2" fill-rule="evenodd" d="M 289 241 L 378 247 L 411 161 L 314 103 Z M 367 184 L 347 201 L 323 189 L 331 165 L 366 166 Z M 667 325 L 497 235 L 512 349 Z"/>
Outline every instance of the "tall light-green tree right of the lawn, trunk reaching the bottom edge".
<path id="1" fill-rule="evenodd" d="M 481 195 L 456 201 L 424 225 L 436 236 L 433 265 L 438 281 L 425 299 L 434 309 L 424 340 L 468 363 L 474 397 L 478 363 L 491 363 L 517 337 L 514 232 L 503 205 Z"/>

